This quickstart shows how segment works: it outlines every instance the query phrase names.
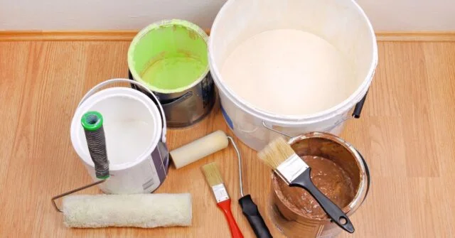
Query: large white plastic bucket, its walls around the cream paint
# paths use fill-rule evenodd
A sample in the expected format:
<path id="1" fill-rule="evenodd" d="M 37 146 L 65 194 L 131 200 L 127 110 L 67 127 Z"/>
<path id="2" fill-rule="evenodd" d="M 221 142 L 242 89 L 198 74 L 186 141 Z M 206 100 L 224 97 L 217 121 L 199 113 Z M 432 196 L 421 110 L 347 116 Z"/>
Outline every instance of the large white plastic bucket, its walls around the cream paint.
<path id="1" fill-rule="evenodd" d="M 266 112 L 233 92 L 220 74 L 232 50 L 258 33 L 284 28 L 313 33 L 348 55 L 360 82 L 355 92 L 334 107 L 302 116 Z M 229 0 L 215 18 L 208 48 L 210 73 L 220 91 L 223 116 L 235 135 L 255 150 L 263 148 L 278 133 L 340 134 L 355 104 L 355 117 L 359 116 L 378 64 L 373 27 L 353 0 Z"/>

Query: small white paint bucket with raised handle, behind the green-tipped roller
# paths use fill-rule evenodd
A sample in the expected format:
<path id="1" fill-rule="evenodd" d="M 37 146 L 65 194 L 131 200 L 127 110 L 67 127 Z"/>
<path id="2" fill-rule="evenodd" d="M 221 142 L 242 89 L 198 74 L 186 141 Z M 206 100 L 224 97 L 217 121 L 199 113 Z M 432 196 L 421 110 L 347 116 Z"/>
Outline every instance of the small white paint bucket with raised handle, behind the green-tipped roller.
<path id="1" fill-rule="evenodd" d="M 112 83 L 139 82 L 112 79 L 93 87 L 82 97 L 71 122 L 71 142 L 93 180 L 95 165 L 90 157 L 80 119 L 85 112 L 103 116 L 110 177 L 99 185 L 104 193 L 151 193 L 168 173 L 166 119 L 158 99 L 129 87 L 109 87 Z M 100 90 L 100 91 L 99 91 Z M 153 93 L 150 92 L 151 95 Z"/>

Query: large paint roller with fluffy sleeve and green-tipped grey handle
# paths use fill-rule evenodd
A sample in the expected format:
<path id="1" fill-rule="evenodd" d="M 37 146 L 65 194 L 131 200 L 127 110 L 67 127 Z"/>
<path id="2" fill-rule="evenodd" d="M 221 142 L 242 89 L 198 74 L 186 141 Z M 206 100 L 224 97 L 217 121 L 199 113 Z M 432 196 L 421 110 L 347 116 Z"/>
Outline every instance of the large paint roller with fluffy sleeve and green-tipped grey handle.
<path id="1" fill-rule="evenodd" d="M 191 194 L 70 195 L 109 179 L 109 161 L 99 112 L 81 119 L 95 174 L 100 180 L 52 198 L 67 227 L 170 227 L 191 225 Z M 69 195 L 69 196 L 67 196 Z M 63 210 L 55 200 L 63 198 Z"/>

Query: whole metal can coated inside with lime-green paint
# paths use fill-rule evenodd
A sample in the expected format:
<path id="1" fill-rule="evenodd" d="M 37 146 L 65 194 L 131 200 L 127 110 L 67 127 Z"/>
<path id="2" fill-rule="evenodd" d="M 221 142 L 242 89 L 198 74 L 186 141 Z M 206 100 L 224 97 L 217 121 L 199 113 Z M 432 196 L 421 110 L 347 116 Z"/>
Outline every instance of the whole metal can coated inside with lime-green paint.
<path id="1" fill-rule="evenodd" d="M 170 127 L 190 126 L 213 108 L 215 87 L 208 73 L 207 42 L 201 28 L 173 19 L 151 23 L 129 45 L 129 78 L 154 92 Z"/>

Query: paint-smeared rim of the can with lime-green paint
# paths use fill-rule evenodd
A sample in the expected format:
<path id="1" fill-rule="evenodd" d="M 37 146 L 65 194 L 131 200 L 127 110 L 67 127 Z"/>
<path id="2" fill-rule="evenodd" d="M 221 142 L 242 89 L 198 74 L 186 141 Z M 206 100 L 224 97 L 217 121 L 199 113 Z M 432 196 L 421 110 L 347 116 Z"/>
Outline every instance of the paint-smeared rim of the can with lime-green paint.
<path id="1" fill-rule="evenodd" d="M 205 33 L 205 31 L 203 31 L 203 29 L 200 28 L 198 25 L 196 25 L 195 23 L 192 23 L 190 21 L 186 21 L 183 19 L 177 19 L 177 18 L 164 19 L 161 21 L 155 21 L 154 23 L 151 23 L 148 26 L 142 28 L 141 31 L 139 31 L 139 33 L 137 33 L 137 35 L 134 36 L 132 42 L 129 44 L 128 53 L 127 53 L 128 68 L 129 68 L 129 71 L 131 72 L 134 80 L 137 80 L 138 82 L 141 82 L 142 84 L 146 85 L 146 87 L 148 87 L 151 91 L 159 92 L 162 94 L 171 94 L 171 93 L 175 93 L 175 92 L 183 92 L 185 90 L 188 90 L 191 87 L 198 85 L 198 83 L 200 83 L 205 78 L 205 76 L 208 74 L 208 72 L 210 71 L 210 63 L 207 62 L 207 65 L 205 65 L 204 72 L 198 77 L 197 80 L 192 82 L 190 85 L 186 85 L 184 87 L 178 87 L 173 90 L 160 89 L 160 88 L 154 87 L 154 85 L 151 85 L 148 82 L 145 82 L 144 80 L 142 80 L 141 76 L 136 72 L 136 70 L 134 70 L 133 53 L 134 53 L 134 49 L 136 48 L 137 43 L 139 43 L 141 38 L 143 38 L 150 31 L 154 31 L 154 30 L 156 30 L 158 28 L 162 28 L 162 27 L 171 27 L 171 26 L 183 26 L 190 31 L 195 31 L 196 33 L 198 33 L 198 36 L 200 36 L 204 40 L 205 46 L 206 46 L 206 51 L 208 52 L 208 35 L 207 35 L 207 33 Z"/>

